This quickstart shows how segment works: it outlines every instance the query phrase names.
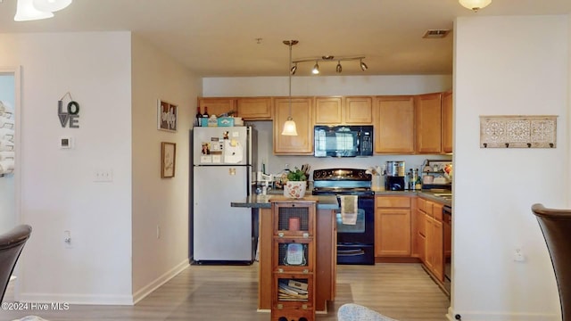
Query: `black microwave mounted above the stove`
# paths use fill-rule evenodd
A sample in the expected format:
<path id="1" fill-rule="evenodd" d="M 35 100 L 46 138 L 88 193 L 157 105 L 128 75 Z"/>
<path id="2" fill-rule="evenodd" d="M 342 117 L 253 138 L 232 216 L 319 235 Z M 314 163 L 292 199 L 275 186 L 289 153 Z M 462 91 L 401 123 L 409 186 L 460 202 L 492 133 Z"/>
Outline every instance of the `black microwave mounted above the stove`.
<path id="1" fill-rule="evenodd" d="M 315 157 L 373 156 L 372 126 L 314 127 Z"/>

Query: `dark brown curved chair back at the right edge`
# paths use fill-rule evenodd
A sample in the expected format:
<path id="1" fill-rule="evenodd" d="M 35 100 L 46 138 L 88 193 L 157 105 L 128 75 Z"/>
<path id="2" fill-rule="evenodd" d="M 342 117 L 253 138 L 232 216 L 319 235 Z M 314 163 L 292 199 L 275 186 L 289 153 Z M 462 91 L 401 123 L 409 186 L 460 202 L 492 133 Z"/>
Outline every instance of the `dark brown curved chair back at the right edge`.
<path id="1" fill-rule="evenodd" d="M 532 205 L 532 211 L 542 229 L 555 279 L 563 321 L 571 320 L 571 210 L 547 209 Z"/>

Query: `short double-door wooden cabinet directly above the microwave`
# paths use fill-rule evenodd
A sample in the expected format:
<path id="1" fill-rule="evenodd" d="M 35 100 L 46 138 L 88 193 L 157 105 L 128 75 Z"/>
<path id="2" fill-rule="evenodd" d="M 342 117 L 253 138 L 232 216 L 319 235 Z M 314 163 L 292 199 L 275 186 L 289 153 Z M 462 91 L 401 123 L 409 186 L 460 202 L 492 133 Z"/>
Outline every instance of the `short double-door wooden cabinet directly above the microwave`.
<path id="1" fill-rule="evenodd" d="M 373 99 L 369 96 L 316 97 L 316 125 L 371 125 Z"/>

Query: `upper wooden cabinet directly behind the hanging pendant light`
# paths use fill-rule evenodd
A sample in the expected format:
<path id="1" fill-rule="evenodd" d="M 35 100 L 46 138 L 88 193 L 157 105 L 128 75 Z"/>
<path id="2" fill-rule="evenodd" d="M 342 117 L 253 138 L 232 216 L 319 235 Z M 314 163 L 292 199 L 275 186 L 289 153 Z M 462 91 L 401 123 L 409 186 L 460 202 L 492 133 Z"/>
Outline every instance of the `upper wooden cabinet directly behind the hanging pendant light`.
<path id="1" fill-rule="evenodd" d="M 310 155 L 313 153 L 313 98 L 292 98 L 291 116 L 297 136 L 281 135 L 285 120 L 290 116 L 289 98 L 274 100 L 274 153 L 277 155 Z"/>

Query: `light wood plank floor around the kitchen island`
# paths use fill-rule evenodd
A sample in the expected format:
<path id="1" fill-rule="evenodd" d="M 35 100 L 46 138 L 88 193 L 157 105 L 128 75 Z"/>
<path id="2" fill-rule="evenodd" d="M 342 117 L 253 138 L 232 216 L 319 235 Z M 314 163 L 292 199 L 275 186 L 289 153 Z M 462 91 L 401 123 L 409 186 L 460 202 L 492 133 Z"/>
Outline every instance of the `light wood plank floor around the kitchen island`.
<path id="1" fill-rule="evenodd" d="M 50 321 L 269 321 L 256 312 L 257 265 L 191 266 L 135 306 L 71 305 L 67 311 L 6 311 L 0 320 L 28 315 Z M 13 300 L 8 289 L 4 302 Z M 337 295 L 327 314 L 317 320 L 336 320 L 343 303 L 354 302 L 400 321 L 445 321 L 450 301 L 419 264 L 338 266 Z"/>

